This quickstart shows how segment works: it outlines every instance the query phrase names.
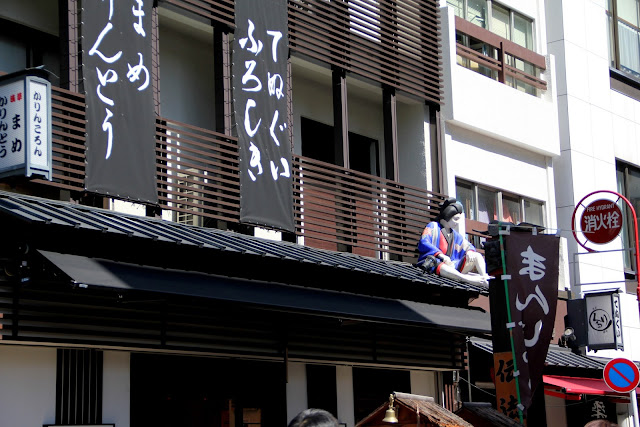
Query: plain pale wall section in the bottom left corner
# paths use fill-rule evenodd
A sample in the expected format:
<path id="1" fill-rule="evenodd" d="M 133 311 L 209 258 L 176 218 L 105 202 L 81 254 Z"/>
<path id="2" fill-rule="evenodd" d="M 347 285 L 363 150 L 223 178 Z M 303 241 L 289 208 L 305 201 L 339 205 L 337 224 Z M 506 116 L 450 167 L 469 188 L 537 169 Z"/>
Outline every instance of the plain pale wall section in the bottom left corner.
<path id="1" fill-rule="evenodd" d="M 56 349 L 0 345 L 0 425 L 56 420 Z"/>

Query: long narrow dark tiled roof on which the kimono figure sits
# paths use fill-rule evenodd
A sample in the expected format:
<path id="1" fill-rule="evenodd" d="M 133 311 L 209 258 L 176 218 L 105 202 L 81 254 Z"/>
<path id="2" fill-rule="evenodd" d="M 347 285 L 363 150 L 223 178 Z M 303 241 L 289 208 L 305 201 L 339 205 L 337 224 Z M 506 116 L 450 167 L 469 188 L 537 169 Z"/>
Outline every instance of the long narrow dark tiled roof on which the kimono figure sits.
<path id="1" fill-rule="evenodd" d="M 156 218 L 129 215 L 16 193 L 0 192 L 0 214 L 11 215 L 30 223 L 97 230 L 103 233 L 152 239 L 176 245 L 192 245 L 214 251 L 293 260 L 452 290 L 488 294 L 488 289 L 485 286 L 470 285 L 437 275 L 424 274 L 412 264 L 405 262 L 385 261 L 350 253 L 332 252 L 289 242 L 276 242 L 230 231 L 183 225 Z"/>

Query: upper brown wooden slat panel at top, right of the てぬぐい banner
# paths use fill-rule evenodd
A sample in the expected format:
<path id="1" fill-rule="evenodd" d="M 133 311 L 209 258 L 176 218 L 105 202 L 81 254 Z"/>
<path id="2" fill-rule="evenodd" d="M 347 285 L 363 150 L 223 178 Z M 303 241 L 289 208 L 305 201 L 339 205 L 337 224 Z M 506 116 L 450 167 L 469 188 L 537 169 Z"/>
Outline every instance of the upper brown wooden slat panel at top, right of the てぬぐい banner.
<path id="1" fill-rule="evenodd" d="M 289 45 L 398 90 L 441 103 L 435 0 L 289 0 Z"/>

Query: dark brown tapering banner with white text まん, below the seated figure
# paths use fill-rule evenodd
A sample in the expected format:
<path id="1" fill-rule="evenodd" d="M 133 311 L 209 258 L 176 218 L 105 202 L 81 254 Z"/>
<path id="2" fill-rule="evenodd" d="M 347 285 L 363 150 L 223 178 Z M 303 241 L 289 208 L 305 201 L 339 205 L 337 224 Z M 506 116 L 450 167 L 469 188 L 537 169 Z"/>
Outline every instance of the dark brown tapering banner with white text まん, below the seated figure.
<path id="1" fill-rule="evenodd" d="M 523 411 L 542 381 L 558 301 L 560 238 L 511 232 L 505 239 L 514 368 Z"/>

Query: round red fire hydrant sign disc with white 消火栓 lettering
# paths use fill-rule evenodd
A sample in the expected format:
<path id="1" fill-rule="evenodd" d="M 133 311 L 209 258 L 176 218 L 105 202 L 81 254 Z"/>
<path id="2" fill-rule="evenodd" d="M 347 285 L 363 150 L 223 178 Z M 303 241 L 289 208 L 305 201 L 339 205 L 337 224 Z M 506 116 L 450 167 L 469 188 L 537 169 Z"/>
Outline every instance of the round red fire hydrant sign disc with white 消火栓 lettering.
<path id="1" fill-rule="evenodd" d="M 611 200 L 596 200 L 582 212 L 580 227 L 584 237 L 590 242 L 609 243 L 622 230 L 622 211 Z"/>

